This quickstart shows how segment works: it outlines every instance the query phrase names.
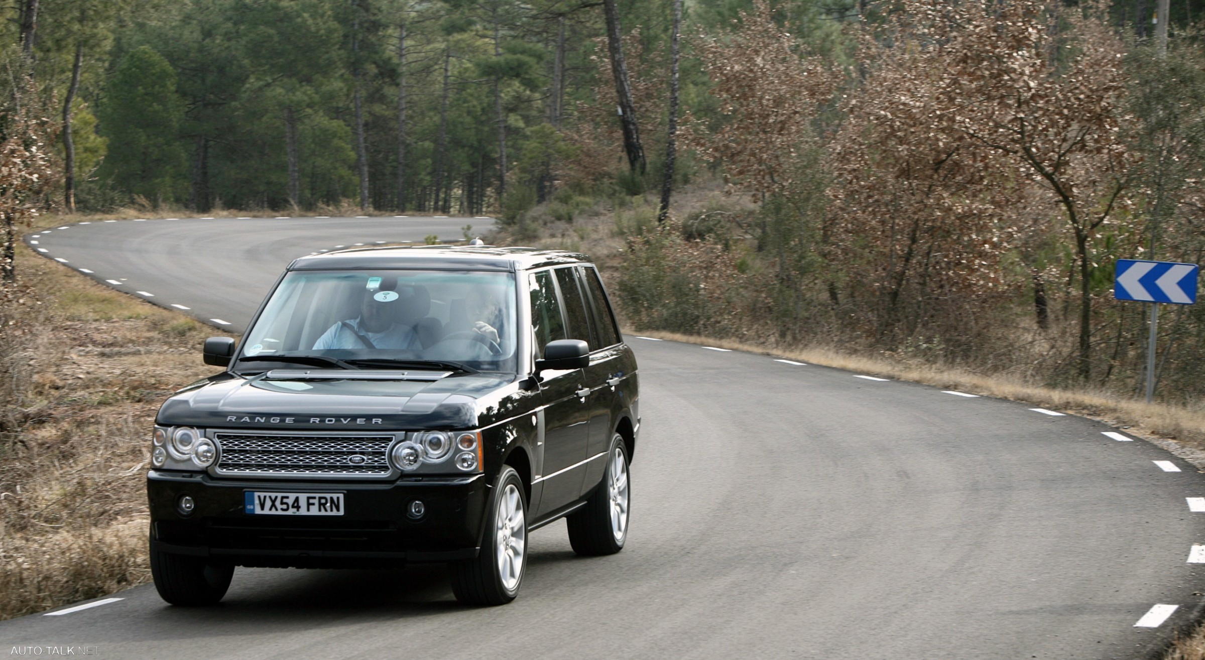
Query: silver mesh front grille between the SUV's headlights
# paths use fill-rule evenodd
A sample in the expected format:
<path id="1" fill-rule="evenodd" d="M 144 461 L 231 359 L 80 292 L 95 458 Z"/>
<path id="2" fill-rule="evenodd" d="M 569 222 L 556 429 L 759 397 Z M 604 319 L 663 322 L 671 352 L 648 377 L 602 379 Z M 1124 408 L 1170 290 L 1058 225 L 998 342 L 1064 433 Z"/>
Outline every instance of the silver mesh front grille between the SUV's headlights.
<path id="1" fill-rule="evenodd" d="M 388 477 L 392 435 L 272 435 L 216 432 L 214 472 L 224 477 Z M 353 456 L 359 456 L 355 461 Z M 363 460 L 360 460 L 363 459 Z"/>

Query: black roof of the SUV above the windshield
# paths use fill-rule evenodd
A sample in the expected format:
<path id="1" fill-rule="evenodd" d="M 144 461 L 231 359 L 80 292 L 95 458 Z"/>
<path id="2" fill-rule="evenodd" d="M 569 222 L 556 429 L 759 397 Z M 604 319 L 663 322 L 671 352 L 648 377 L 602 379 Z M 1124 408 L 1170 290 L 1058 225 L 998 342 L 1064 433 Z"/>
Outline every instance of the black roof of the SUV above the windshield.
<path id="1" fill-rule="evenodd" d="M 380 246 L 311 254 L 289 264 L 295 270 L 477 270 L 518 271 L 590 263 L 590 258 L 559 249 L 493 246 Z"/>

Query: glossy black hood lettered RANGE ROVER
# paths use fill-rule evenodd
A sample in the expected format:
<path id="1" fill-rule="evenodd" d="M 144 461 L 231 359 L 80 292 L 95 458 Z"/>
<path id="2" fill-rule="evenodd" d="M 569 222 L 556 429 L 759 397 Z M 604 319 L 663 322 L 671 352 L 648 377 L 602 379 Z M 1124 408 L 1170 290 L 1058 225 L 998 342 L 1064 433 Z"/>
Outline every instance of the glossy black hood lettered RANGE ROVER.
<path id="1" fill-rule="evenodd" d="M 465 429 L 483 407 L 496 408 L 513 375 L 469 373 L 439 381 L 281 379 L 229 373 L 169 399 L 163 425 L 298 430 Z"/>

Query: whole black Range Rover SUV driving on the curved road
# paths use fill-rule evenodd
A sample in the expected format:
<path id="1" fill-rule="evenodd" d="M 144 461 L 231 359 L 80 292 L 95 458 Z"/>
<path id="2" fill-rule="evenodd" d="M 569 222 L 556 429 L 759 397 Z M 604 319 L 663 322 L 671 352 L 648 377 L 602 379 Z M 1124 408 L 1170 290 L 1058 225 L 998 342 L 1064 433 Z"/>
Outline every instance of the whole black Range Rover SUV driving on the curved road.
<path id="1" fill-rule="evenodd" d="M 204 354 L 227 371 L 163 405 L 147 475 L 167 602 L 217 602 L 235 566 L 437 561 L 460 602 L 501 605 L 542 525 L 623 548 L 636 360 L 582 254 L 306 257 Z"/>

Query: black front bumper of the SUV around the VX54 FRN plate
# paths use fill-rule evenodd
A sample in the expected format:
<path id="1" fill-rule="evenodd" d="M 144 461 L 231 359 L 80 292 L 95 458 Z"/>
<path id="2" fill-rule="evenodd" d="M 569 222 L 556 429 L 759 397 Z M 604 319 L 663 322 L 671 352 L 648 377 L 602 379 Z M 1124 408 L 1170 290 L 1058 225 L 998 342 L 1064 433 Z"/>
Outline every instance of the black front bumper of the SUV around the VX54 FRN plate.
<path id="1" fill-rule="evenodd" d="M 342 493 L 343 515 L 255 515 L 245 493 Z M 176 511 L 181 495 L 196 502 Z M 483 475 L 404 477 L 395 482 L 213 479 L 206 473 L 147 475 L 151 549 L 211 556 L 240 566 L 369 567 L 477 555 L 486 511 Z M 421 500 L 425 513 L 406 517 Z"/>

